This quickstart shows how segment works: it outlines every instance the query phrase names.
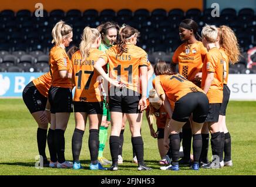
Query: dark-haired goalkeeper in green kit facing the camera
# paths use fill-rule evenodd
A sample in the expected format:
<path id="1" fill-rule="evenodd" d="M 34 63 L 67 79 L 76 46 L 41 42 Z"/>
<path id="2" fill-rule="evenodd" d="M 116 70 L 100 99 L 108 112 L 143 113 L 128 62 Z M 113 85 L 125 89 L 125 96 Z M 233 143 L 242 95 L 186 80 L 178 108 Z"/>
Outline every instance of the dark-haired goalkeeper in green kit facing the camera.
<path id="1" fill-rule="evenodd" d="M 117 40 L 117 33 L 119 32 L 119 26 L 116 23 L 113 22 L 106 22 L 102 25 L 97 27 L 97 30 L 99 30 L 101 36 L 102 36 L 102 42 L 100 43 L 99 50 L 100 51 L 106 51 L 110 47 L 113 46 L 113 44 Z M 109 69 L 109 65 L 107 65 L 107 69 Z M 104 91 L 104 90 L 103 90 Z M 107 141 L 107 129 L 110 124 L 110 113 L 109 108 L 106 108 L 106 93 L 103 92 L 104 100 L 103 100 L 103 116 L 102 116 L 102 123 L 100 125 L 100 132 L 99 132 L 99 156 L 98 160 L 100 164 L 107 165 L 112 164 L 111 161 L 107 160 L 107 158 L 103 157 L 103 151 L 106 146 Z"/>

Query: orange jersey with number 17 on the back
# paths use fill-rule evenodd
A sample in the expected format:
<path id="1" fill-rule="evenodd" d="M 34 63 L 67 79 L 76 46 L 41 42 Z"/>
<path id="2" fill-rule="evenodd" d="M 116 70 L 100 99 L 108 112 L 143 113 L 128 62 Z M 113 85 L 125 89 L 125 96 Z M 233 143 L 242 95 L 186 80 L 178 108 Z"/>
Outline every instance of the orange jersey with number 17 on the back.
<path id="1" fill-rule="evenodd" d="M 76 91 L 73 101 L 101 102 L 103 97 L 99 88 L 101 83 L 100 75 L 94 71 L 93 65 L 103 52 L 98 49 L 90 49 L 89 56 L 82 61 L 82 54 L 79 51 L 73 54 L 69 72 L 75 80 Z"/>

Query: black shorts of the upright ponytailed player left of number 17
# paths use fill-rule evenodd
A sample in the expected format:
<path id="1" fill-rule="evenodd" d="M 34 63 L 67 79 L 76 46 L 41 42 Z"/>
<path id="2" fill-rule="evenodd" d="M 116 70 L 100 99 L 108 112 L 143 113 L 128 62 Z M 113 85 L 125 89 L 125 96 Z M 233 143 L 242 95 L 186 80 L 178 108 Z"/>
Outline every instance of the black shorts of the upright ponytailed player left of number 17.
<path id="1" fill-rule="evenodd" d="M 50 86 L 48 98 L 51 113 L 73 112 L 73 98 L 70 88 Z"/>

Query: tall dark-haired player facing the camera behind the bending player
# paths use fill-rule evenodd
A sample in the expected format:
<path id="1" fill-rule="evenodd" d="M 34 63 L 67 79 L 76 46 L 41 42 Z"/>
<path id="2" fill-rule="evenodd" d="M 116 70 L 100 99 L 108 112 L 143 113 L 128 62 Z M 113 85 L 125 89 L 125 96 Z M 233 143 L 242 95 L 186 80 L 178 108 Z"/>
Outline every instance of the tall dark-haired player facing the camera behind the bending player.
<path id="1" fill-rule="evenodd" d="M 201 74 L 207 49 L 200 41 L 201 38 L 197 32 L 198 25 L 192 19 L 184 19 L 178 29 L 180 31 L 180 39 L 184 41 L 184 43 L 174 52 L 172 66 L 174 68 L 176 64 L 178 64 L 178 72 L 187 78 L 188 81 L 200 87 L 201 79 L 198 78 L 198 74 Z M 202 134 L 203 147 L 205 144 L 208 145 L 208 143 L 206 143 L 206 141 L 208 141 L 207 135 L 208 134 Z M 180 164 L 189 164 L 192 138 L 189 120 L 183 127 L 182 137 L 184 158 L 180 160 Z"/>

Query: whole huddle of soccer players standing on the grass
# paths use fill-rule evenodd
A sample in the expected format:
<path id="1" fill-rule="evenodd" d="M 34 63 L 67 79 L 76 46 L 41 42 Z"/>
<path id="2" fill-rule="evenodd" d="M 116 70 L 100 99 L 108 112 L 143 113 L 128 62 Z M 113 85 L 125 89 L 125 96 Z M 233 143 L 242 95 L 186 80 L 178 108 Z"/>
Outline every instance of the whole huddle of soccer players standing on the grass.
<path id="1" fill-rule="evenodd" d="M 83 168 L 79 155 L 88 118 L 90 169 L 118 170 L 123 163 L 123 132 L 128 120 L 133 161 L 139 171 L 151 170 L 144 163 L 143 110 L 150 134 L 158 141 L 160 164 L 167 164 L 161 169 L 177 171 L 179 164 L 190 165 L 194 170 L 232 166 L 225 110 L 230 96 L 228 64 L 236 63 L 240 56 L 237 38 L 228 26 L 206 25 L 201 37 L 197 30 L 194 20 L 183 20 L 179 26 L 183 44 L 174 52 L 173 63 L 151 62 L 153 68 L 146 51 L 136 46 L 139 31 L 129 25 L 119 27 L 106 22 L 97 28 L 85 27 L 79 47 L 66 52 L 73 37 L 72 27 L 63 21 L 56 23 L 52 30 L 55 46 L 49 53 L 50 71 L 23 90 L 23 101 L 38 123 L 37 142 L 43 166 Z M 176 64 L 179 72 L 175 72 Z M 152 76 L 155 78 L 149 81 Z M 150 92 L 148 84 L 154 87 Z M 73 162 L 69 162 L 65 159 L 64 134 L 72 112 L 75 130 Z M 153 116 L 157 131 L 153 129 Z M 103 157 L 110 124 L 112 161 Z M 180 160 L 181 140 L 184 155 Z M 45 153 L 46 141 L 50 161 Z M 111 166 L 103 167 L 107 164 Z"/>

